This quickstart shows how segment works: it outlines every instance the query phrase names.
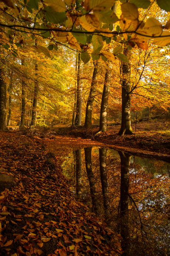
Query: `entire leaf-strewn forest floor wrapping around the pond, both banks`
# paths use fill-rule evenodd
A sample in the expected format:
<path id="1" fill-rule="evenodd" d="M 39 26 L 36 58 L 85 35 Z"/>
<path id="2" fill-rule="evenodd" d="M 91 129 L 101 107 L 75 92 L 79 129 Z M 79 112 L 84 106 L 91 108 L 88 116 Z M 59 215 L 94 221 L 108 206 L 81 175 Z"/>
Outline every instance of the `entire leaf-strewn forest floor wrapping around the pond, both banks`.
<path id="1" fill-rule="evenodd" d="M 135 131 L 135 124 L 132 124 Z M 170 120 L 120 126 L 0 132 L 0 250 L 4 256 L 122 255 L 121 236 L 90 213 L 70 191 L 62 157 L 91 146 L 110 147 L 170 161 Z"/>

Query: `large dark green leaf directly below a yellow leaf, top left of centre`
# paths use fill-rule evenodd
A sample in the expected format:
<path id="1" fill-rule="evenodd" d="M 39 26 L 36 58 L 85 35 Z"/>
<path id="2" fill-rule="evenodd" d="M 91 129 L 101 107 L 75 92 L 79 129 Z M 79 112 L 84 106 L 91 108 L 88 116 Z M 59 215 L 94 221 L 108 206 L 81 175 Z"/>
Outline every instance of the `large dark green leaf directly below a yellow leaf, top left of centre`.
<path id="1" fill-rule="evenodd" d="M 54 24 L 62 23 L 67 20 L 65 12 L 58 13 L 51 9 L 50 6 L 44 8 L 43 13 L 45 14 L 46 19 Z"/>

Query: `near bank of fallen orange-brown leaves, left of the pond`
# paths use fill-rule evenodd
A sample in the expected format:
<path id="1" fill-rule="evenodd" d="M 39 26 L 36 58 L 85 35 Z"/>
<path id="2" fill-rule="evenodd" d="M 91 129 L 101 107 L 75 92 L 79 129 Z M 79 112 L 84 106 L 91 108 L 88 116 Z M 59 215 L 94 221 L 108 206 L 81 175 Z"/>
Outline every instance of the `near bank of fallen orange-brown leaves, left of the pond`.
<path id="1" fill-rule="evenodd" d="M 58 156 L 49 151 L 54 140 Z M 121 236 L 69 190 L 60 167 L 64 141 L 0 132 L 0 255 L 123 254 Z M 70 148 L 78 145 L 73 141 Z M 79 147 L 91 143 L 80 141 Z"/>

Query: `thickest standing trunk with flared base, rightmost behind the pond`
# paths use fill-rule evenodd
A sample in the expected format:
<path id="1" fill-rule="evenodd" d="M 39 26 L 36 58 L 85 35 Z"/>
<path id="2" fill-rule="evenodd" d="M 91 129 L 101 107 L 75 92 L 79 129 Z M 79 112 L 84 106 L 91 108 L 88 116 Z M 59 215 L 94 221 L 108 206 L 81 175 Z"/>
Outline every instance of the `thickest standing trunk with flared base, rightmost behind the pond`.
<path id="1" fill-rule="evenodd" d="M 123 54 L 130 57 L 130 51 L 124 45 Z M 122 62 L 122 122 L 118 135 L 133 134 L 130 124 L 130 63 Z"/>

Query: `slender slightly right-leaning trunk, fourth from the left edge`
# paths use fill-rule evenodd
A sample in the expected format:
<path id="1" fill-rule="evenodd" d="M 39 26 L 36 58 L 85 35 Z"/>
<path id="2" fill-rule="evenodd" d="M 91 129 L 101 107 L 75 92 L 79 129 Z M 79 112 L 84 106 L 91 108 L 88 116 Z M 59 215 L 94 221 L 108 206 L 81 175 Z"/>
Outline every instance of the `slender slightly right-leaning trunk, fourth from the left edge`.
<path id="1" fill-rule="evenodd" d="M 37 39 L 35 39 L 35 46 L 37 46 Z M 38 71 L 38 65 L 37 63 L 35 63 L 35 76 L 37 76 L 37 71 Z M 37 115 L 37 101 L 38 101 L 38 82 L 35 81 L 33 109 L 32 109 L 32 117 L 31 117 L 31 124 L 30 124 L 30 129 L 33 129 L 33 130 L 35 128 L 35 120 Z"/>

